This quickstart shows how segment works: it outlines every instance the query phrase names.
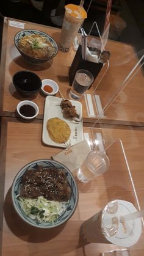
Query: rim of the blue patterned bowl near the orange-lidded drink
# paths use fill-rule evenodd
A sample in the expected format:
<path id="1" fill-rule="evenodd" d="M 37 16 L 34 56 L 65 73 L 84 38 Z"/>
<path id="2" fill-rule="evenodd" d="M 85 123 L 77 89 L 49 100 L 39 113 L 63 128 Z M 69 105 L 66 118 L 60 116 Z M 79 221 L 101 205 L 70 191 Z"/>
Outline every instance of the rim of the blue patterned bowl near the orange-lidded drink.
<path id="1" fill-rule="evenodd" d="M 56 53 L 55 53 L 52 57 L 43 58 L 43 59 L 41 59 L 41 58 L 35 58 L 35 57 L 32 57 L 32 56 L 27 55 L 26 53 L 23 53 L 23 51 L 21 51 L 21 49 L 20 49 L 20 48 L 18 47 L 18 45 L 16 44 L 15 38 L 16 38 L 16 36 L 17 36 L 18 34 L 20 34 L 21 32 L 24 32 L 24 31 L 38 31 L 38 32 L 40 32 L 41 34 L 45 34 L 47 37 L 51 38 L 51 40 L 53 40 L 54 43 L 55 43 L 55 45 L 56 45 Z M 42 60 L 49 60 L 49 59 L 52 59 L 53 57 L 56 56 L 56 54 L 57 54 L 58 51 L 59 51 L 59 48 L 58 48 L 57 43 L 56 43 L 56 41 L 54 40 L 54 38 L 51 37 L 51 35 L 47 34 L 46 32 L 40 31 L 40 30 L 38 30 L 38 29 L 21 29 L 20 31 L 18 31 L 18 32 L 15 34 L 14 43 L 15 43 L 16 48 L 18 49 L 18 51 L 20 51 L 21 54 L 24 54 L 24 55 L 26 55 L 27 57 L 29 57 L 29 58 L 31 58 L 31 59 L 33 59 L 33 60 L 41 60 L 41 61 L 42 61 Z"/>

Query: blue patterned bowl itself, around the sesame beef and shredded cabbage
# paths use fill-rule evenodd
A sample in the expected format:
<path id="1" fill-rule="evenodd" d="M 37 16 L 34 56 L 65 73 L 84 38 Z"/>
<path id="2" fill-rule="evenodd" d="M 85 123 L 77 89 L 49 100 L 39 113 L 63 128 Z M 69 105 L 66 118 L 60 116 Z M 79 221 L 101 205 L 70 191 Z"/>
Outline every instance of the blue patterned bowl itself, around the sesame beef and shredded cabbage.
<path id="1" fill-rule="evenodd" d="M 70 188 L 71 188 L 71 196 L 70 196 L 70 200 L 69 200 L 68 205 L 67 205 L 67 209 L 65 210 L 65 212 L 61 216 L 59 216 L 58 219 L 56 219 L 56 221 L 54 221 L 54 223 L 50 223 L 50 222 L 43 222 L 43 223 L 39 222 L 38 223 L 37 221 L 34 221 L 34 220 L 30 219 L 28 216 L 26 216 L 26 214 L 24 213 L 24 211 L 20 207 L 20 203 L 19 203 L 19 200 L 18 200 L 18 194 L 20 194 L 21 177 L 23 176 L 24 172 L 26 172 L 27 169 L 37 170 L 37 166 L 56 167 L 57 169 L 60 169 L 60 168 L 64 169 L 65 174 L 67 175 L 68 183 L 69 183 Z M 28 224 L 30 224 L 32 226 L 35 226 L 35 227 L 42 228 L 42 229 L 51 229 L 52 227 L 57 227 L 58 225 L 61 225 L 65 222 L 67 222 L 68 219 L 71 218 L 74 211 L 76 210 L 77 203 L 78 203 L 78 189 L 77 189 L 76 181 L 74 180 L 74 177 L 71 174 L 70 170 L 68 170 L 67 167 L 63 166 L 63 164 L 61 164 L 57 161 L 51 160 L 51 159 L 35 160 L 35 161 L 32 161 L 31 163 L 27 164 L 26 166 L 24 166 L 18 172 L 15 179 L 13 180 L 12 202 L 13 202 L 13 206 L 15 207 L 15 210 L 18 213 L 18 215 L 24 221 L 26 221 Z"/>

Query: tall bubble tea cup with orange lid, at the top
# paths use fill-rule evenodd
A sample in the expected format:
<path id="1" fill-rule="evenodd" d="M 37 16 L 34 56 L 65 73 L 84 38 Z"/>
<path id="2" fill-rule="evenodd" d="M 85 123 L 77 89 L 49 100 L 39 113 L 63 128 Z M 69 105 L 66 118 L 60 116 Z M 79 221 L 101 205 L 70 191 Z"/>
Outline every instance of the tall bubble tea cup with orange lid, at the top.
<path id="1" fill-rule="evenodd" d="M 85 18 L 87 18 L 87 13 L 83 7 L 76 4 L 65 5 L 65 16 L 59 40 L 61 51 L 69 51 Z"/>

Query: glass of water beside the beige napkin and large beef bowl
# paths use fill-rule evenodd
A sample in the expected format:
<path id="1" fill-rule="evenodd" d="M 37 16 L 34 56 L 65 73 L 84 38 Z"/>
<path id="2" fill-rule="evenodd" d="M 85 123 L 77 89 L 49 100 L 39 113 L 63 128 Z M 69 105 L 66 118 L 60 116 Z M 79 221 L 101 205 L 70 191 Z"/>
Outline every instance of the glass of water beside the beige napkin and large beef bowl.
<path id="1" fill-rule="evenodd" d="M 109 169 L 110 161 L 105 152 L 92 150 L 77 170 L 77 178 L 87 183 L 104 174 Z"/>

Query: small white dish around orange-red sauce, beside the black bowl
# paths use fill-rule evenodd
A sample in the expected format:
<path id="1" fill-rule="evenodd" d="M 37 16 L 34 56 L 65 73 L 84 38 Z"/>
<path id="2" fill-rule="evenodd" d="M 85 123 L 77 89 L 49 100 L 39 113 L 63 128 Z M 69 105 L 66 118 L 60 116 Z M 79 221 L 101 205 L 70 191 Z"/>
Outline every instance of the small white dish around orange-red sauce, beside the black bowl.
<path id="1" fill-rule="evenodd" d="M 46 90 L 44 90 L 45 86 L 50 86 L 52 88 L 52 92 L 46 92 Z M 59 86 L 54 80 L 43 79 L 41 90 L 42 90 L 43 93 L 45 93 L 45 95 L 51 95 L 52 96 L 52 95 L 55 95 L 57 92 L 59 92 Z"/>

